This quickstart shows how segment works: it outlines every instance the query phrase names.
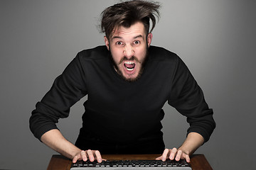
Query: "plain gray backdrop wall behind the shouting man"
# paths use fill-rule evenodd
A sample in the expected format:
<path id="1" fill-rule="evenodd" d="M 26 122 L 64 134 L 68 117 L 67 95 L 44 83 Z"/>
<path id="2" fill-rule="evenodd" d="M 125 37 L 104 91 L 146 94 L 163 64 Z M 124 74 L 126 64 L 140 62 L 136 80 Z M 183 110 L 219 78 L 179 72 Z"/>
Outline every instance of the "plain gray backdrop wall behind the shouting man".
<path id="1" fill-rule="evenodd" d="M 75 55 L 103 45 L 101 11 L 117 1 L 0 1 L 0 169 L 46 169 L 54 151 L 28 118 Z M 176 52 L 213 108 L 217 128 L 196 153 L 213 169 L 254 169 L 256 3 L 250 0 L 161 0 L 152 45 Z M 75 142 L 82 98 L 58 127 Z M 183 142 L 186 118 L 164 106 L 166 147 Z M 245 163 L 242 163 L 245 162 Z"/>

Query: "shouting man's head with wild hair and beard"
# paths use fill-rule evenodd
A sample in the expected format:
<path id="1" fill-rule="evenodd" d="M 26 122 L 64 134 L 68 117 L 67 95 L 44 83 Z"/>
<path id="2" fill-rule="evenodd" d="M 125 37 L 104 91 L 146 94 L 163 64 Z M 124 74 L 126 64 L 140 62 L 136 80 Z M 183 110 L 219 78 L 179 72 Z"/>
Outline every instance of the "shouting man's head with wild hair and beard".
<path id="1" fill-rule="evenodd" d="M 158 9 L 159 4 L 135 0 L 115 4 L 102 12 L 105 44 L 111 52 L 114 68 L 127 81 L 134 81 L 142 74 L 151 31 L 159 17 Z"/>

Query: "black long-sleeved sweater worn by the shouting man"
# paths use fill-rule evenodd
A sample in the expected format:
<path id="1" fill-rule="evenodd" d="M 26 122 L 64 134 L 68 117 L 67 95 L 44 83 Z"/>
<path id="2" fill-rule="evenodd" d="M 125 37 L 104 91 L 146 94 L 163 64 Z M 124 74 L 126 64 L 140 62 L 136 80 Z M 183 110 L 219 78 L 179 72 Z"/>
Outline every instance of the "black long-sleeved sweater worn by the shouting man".
<path id="1" fill-rule="evenodd" d="M 30 118 L 33 135 L 40 140 L 56 129 L 58 119 L 68 117 L 70 107 L 85 95 L 80 135 L 90 131 L 102 140 L 123 142 L 159 134 L 166 101 L 186 115 L 188 133 L 198 132 L 207 142 L 215 128 L 201 88 L 176 54 L 149 47 L 142 77 L 128 82 L 115 72 L 107 48 L 99 46 L 79 52 L 36 104 Z"/>

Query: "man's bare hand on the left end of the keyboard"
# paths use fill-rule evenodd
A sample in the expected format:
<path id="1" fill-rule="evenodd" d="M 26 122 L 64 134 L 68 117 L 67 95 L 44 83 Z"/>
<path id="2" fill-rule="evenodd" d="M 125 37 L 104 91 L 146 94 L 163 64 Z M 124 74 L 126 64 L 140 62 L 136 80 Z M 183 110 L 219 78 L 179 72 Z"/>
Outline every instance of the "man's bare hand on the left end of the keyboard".
<path id="1" fill-rule="evenodd" d="M 77 162 L 78 160 L 83 160 L 83 161 L 87 161 L 87 159 L 90 159 L 90 162 L 94 162 L 95 159 L 97 159 L 97 162 L 101 163 L 102 160 L 106 159 L 102 159 L 101 155 L 100 155 L 100 151 L 98 150 L 82 150 L 81 152 L 79 152 L 78 154 L 75 155 L 75 157 L 73 157 L 73 163 Z"/>

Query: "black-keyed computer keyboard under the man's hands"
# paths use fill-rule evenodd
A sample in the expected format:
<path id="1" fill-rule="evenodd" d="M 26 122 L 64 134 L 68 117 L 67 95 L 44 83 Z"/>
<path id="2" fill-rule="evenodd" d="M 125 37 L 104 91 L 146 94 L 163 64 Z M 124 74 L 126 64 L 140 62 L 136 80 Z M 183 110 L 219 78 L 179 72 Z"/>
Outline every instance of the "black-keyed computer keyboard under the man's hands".
<path id="1" fill-rule="evenodd" d="M 90 161 L 78 161 L 75 164 L 72 164 L 70 170 L 192 170 L 190 164 L 188 164 L 185 160 L 175 161 L 167 159 L 165 162 L 161 160 L 115 160 L 115 161 L 103 161 L 101 163 L 98 162 L 90 162 Z"/>

